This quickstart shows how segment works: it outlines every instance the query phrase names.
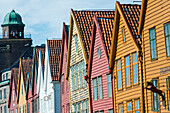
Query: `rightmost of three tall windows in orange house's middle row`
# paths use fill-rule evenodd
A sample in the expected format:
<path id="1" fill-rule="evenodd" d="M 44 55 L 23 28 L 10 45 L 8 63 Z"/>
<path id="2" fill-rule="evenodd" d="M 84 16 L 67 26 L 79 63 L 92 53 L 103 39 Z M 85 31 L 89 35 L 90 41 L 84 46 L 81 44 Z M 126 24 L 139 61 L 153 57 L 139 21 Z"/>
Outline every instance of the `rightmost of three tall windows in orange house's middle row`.
<path id="1" fill-rule="evenodd" d="M 137 53 L 132 54 L 133 63 L 133 84 L 138 83 L 138 57 Z"/>

